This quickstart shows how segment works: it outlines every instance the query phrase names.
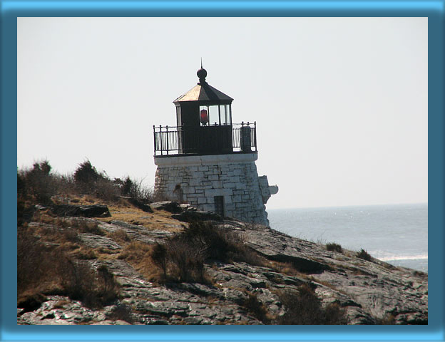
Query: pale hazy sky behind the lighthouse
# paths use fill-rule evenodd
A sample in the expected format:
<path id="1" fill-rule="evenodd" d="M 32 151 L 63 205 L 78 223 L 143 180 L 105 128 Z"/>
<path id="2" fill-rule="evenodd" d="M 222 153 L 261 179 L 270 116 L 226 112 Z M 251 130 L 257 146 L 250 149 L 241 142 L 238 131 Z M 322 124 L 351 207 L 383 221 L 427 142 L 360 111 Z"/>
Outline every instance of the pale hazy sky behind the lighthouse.
<path id="1" fill-rule="evenodd" d="M 268 209 L 427 202 L 426 18 L 19 18 L 17 165 L 153 185 L 153 125 L 198 82 L 257 121 Z"/>

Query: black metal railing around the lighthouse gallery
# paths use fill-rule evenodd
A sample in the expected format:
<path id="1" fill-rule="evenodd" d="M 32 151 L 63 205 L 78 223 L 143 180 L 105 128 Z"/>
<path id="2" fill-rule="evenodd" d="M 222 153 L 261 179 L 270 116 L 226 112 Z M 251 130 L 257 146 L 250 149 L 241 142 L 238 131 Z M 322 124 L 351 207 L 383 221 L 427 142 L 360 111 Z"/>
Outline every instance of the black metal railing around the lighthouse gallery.
<path id="1" fill-rule="evenodd" d="M 257 123 L 153 126 L 155 155 L 225 154 L 257 151 Z"/>

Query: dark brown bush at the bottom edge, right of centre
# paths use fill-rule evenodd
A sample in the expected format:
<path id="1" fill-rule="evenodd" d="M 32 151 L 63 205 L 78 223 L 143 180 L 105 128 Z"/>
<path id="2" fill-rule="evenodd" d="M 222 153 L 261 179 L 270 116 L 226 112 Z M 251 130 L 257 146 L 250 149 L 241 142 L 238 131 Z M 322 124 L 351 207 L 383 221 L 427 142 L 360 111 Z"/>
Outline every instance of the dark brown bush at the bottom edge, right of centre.
<path id="1" fill-rule="evenodd" d="M 323 308 L 317 294 L 307 284 L 300 286 L 297 292 L 283 291 L 279 296 L 286 308 L 285 314 L 279 318 L 280 324 L 347 324 L 346 311 L 338 304 Z"/>

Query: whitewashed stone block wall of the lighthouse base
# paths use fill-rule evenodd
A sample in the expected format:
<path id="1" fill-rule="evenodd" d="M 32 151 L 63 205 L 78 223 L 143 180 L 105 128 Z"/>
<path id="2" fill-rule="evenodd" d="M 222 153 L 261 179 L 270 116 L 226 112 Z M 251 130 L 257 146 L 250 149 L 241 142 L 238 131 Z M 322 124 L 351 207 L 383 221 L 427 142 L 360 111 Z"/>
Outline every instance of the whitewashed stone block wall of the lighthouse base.
<path id="1" fill-rule="evenodd" d="M 218 157 L 155 157 L 155 195 L 209 211 L 215 196 L 223 196 L 225 216 L 268 226 L 256 153 Z"/>

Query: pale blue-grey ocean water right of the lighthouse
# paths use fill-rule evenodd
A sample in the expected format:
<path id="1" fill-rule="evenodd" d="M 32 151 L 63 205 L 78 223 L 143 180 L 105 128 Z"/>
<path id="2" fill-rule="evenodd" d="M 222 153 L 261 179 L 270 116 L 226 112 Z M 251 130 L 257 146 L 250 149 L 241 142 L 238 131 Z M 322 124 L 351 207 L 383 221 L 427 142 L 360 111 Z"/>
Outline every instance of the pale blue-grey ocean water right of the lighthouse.
<path id="1" fill-rule="evenodd" d="M 270 227 L 428 272 L 428 204 L 267 209 Z"/>

